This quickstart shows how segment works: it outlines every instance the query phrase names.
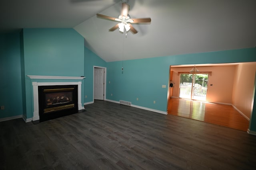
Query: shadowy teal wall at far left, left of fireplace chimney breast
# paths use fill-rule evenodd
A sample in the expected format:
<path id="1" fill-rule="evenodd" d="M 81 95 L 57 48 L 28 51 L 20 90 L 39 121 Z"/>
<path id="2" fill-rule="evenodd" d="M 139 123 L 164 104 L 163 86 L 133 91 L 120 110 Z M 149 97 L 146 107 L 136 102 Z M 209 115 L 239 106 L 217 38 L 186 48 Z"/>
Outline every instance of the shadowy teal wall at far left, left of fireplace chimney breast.
<path id="1" fill-rule="evenodd" d="M 22 115 L 20 34 L 0 35 L 0 118 Z"/>

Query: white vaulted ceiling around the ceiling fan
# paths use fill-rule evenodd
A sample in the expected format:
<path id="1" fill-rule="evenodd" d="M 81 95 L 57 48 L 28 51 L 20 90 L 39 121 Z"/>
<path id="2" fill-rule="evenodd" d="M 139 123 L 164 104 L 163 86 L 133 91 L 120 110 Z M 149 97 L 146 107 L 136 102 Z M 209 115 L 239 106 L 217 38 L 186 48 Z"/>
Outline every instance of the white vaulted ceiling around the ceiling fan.
<path id="1" fill-rule="evenodd" d="M 128 0 L 137 34 L 108 29 L 121 0 L 1 0 L 0 31 L 74 28 L 85 45 L 105 61 L 142 59 L 256 46 L 256 0 Z"/>

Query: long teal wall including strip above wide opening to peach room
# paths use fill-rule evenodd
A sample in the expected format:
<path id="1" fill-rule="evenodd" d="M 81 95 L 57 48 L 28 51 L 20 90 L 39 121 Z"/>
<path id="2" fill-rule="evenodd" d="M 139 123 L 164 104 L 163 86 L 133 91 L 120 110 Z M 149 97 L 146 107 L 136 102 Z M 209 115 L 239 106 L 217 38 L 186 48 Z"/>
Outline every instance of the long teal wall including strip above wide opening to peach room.
<path id="1" fill-rule="evenodd" d="M 110 81 L 110 84 L 107 83 L 107 99 L 125 100 L 137 106 L 167 111 L 170 65 L 254 61 L 256 48 L 109 62 L 107 82 Z M 166 85 L 166 88 L 162 88 L 162 85 Z"/>

